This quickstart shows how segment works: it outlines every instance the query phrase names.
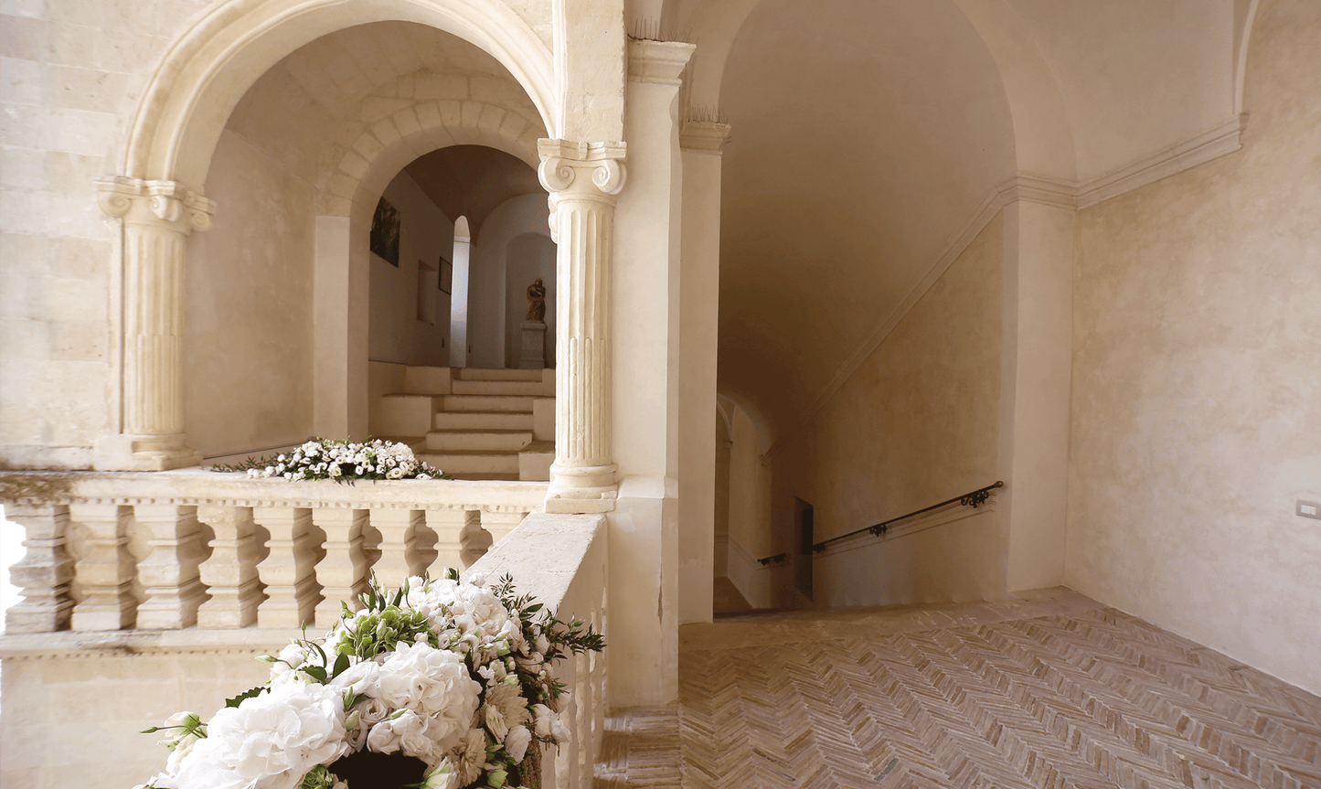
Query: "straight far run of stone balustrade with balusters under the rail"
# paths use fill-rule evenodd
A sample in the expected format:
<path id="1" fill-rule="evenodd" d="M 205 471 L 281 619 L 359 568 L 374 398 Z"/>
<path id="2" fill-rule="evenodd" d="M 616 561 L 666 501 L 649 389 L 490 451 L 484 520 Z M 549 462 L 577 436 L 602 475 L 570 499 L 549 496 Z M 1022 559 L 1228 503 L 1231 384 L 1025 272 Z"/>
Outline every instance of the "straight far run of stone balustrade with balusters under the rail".
<path id="1" fill-rule="evenodd" d="M 33 474 L 5 504 L 26 529 L 8 633 L 326 626 L 369 574 L 466 567 L 544 482 L 251 480 L 180 469 Z"/>

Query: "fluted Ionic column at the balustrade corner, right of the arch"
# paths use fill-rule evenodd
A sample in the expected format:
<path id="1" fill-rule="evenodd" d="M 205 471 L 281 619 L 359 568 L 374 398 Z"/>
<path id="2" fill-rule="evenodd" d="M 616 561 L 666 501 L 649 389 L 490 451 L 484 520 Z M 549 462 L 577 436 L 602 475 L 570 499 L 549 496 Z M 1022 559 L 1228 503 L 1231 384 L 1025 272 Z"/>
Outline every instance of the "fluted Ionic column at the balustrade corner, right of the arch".
<path id="1" fill-rule="evenodd" d="M 546 511 L 613 507 L 610 447 L 610 248 L 624 143 L 542 140 L 556 256 L 555 463 Z"/>

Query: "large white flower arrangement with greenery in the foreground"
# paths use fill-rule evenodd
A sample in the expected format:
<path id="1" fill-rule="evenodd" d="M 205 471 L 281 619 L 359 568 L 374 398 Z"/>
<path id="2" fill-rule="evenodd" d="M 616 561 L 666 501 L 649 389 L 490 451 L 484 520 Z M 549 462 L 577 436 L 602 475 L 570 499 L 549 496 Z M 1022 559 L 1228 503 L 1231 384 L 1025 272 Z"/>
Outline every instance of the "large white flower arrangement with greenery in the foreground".
<path id="1" fill-rule="evenodd" d="M 165 772 L 137 789 L 421 789 L 540 784 L 540 744 L 567 741 L 568 695 L 550 666 L 600 652 L 601 634 L 561 622 L 510 576 L 411 578 L 392 596 L 375 578 L 357 613 L 322 638 L 295 640 L 266 685 L 211 720 L 164 726 Z"/>

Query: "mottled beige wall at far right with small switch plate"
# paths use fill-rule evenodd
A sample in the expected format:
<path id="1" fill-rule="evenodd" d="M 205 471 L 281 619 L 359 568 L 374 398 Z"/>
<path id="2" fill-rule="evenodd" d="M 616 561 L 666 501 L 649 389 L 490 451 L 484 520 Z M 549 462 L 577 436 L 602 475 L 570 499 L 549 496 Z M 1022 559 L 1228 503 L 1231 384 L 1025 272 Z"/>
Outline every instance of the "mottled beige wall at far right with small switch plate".
<path id="1" fill-rule="evenodd" d="M 1078 214 L 1066 583 L 1321 691 L 1321 4 L 1263 1 L 1243 149 Z"/>

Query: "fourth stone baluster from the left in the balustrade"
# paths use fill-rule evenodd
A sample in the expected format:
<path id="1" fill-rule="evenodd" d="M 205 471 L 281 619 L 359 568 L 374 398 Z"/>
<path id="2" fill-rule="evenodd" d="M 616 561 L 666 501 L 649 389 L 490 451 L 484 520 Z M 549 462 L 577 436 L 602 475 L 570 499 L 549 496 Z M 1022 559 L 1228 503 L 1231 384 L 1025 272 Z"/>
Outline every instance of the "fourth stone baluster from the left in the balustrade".
<path id="1" fill-rule="evenodd" d="M 256 607 L 262 601 L 252 507 L 205 505 L 197 507 L 197 519 L 215 531 L 211 558 L 201 570 L 211 599 L 198 609 L 197 624 L 201 628 L 246 628 L 256 621 Z"/>

